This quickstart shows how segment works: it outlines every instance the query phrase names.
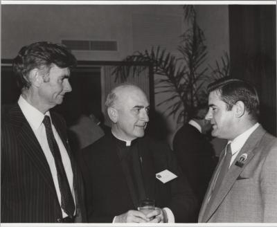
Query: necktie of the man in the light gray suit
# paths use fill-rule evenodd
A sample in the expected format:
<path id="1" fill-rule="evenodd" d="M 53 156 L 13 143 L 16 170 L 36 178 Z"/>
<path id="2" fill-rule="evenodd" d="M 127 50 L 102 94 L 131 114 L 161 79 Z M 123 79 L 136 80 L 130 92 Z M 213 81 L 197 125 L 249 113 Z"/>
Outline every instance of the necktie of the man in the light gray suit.
<path id="1" fill-rule="evenodd" d="M 211 203 L 211 201 L 217 196 L 217 192 L 220 189 L 220 185 L 222 184 L 224 176 L 226 175 L 226 173 L 229 170 L 229 165 L 230 165 L 230 162 L 231 162 L 231 158 L 232 158 L 231 143 L 228 143 L 228 145 L 226 146 L 226 154 L 224 156 L 223 163 L 220 167 L 220 172 L 217 176 L 217 180 L 215 181 L 213 192 L 211 194 L 211 198 L 210 198 L 210 201 L 208 203 Z"/>

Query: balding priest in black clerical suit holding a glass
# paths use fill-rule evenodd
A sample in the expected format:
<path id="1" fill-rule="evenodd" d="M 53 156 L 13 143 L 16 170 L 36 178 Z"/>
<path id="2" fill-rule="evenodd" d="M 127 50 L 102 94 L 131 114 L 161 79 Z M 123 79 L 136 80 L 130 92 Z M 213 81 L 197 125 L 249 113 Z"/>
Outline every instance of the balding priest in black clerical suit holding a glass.
<path id="1" fill-rule="evenodd" d="M 168 146 L 144 136 L 145 93 L 121 84 L 106 106 L 111 132 L 80 152 L 89 222 L 186 222 L 197 202 Z M 144 215 L 137 208 L 146 198 L 156 209 Z"/>

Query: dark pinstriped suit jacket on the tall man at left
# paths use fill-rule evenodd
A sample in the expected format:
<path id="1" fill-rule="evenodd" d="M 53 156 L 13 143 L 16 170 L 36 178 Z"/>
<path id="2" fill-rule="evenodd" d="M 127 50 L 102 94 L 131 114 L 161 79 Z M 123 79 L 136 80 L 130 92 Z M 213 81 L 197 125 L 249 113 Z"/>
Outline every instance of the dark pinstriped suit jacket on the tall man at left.
<path id="1" fill-rule="evenodd" d="M 77 217 L 86 221 L 80 171 L 73 160 L 66 125 L 61 116 L 51 118 L 71 159 Z M 59 222 L 60 203 L 50 167 L 19 105 L 1 113 L 1 222 Z"/>

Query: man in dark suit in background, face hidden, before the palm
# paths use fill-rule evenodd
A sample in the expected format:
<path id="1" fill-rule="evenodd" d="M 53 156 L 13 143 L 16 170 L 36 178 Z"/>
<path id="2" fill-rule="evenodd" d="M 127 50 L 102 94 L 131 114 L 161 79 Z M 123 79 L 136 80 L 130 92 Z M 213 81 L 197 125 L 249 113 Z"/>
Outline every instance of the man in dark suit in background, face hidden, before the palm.
<path id="1" fill-rule="evenodd" d="M 183 125 L 173 139 L 173 150 L 184 175 L 197 196 L 199 206 L 193 220 L 197 221 L 199 209 L 217 164 L 213 146 L 206 133 L 211 129 L 205 120 L 208 105 L 195 108 L 193 118 Z"/>

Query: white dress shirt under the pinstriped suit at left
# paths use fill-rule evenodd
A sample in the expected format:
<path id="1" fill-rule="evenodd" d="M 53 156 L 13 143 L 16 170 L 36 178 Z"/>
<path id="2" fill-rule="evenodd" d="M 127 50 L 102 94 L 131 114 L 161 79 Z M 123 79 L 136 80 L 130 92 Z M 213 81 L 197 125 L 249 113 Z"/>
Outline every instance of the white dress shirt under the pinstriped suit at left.
<path id="1" fill-rule="evenodd" d="M 55 185 L 55 190 L 57 192 L 57 199 L 61 204 L 61 193 L 60 193 L 59 183 L 57 181 L 57 169 L 55 166 L 55 159 L 49 148 L 45 127 L 44 127 L 44 124 L 42 123 L 42 121 L 44 120 L 44 114 L 42 114 L 42 112 L 40 112 L 38 109 L 30 105 L 22 96 L 19 97 L 18 105 L 21 111 L 23 112 L 26 120 L 28 121 L 30 127 L 33 129 L 35 133 L 35 137 L 39 141 L 39 145 L 42 147 L 47 163 L 51 170 L 53 182 Z M 45 115 L 49 116 L 51 119 L 49 111 L 47 111 Z M 64 170 L 66 172 L 66 176 L 69 181 L 69 186 L 75 203 L 75 194 L 73 190 L 73 172 L 71 167 L 71 161 L 69 159 L 69 155 L 66 152 L 66 148 L 64 147 L 64 144 L 62 143 L 62 140 L 59 134 L 57 134 L 57 131 L 54 125 L 52 124 L 52 120 L 51 120 L 51 125 L 52 125 L 55 140 L 57 141 L 57 145 L 59 146 L 59 149 L 60 149 L 60 153 L 62 156 L 62 164 L 64 165 Z M 62 217 L 67 217 L 67 216 L 68 215 L 64 212 L 64 210 L 62 210 Z"/>

